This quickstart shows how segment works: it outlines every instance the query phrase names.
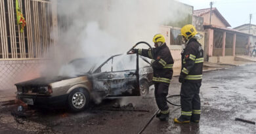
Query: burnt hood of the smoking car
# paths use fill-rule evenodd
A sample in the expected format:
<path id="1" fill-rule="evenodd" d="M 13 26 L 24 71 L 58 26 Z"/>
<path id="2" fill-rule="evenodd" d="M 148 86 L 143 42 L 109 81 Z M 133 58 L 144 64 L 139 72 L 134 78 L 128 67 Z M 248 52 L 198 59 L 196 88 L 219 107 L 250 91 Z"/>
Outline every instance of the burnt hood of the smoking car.
<path id="1" fill-rule="evenodd" d="M 75 78 L 71 76 L 39 77 L 25 82 L 16 83 L 15 86 L 47 86 L 53 82 Z"/>

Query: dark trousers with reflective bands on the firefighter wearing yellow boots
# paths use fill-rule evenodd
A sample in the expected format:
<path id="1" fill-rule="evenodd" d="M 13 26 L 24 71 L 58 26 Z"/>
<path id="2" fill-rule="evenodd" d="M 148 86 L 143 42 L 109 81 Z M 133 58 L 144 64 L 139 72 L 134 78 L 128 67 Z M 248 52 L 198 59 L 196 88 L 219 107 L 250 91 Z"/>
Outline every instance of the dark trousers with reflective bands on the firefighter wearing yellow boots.
<path id="1" fill-rule="evenodd" d="M 183 120 L 200 120 L 201 83 L 183 82 L 181 84 L 181 117 Z"/>

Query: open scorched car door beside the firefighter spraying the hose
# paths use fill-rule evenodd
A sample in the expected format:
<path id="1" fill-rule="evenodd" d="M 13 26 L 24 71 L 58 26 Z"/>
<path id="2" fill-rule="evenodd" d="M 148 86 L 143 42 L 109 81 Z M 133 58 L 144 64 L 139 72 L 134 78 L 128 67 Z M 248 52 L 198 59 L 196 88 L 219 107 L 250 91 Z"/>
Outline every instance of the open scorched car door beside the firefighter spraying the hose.
<path id="1" fill-rule="evenodd" d="M 136 54 L 115 56 L 113 58 L 109 96 L 140 95 L 137 58 Z"/>

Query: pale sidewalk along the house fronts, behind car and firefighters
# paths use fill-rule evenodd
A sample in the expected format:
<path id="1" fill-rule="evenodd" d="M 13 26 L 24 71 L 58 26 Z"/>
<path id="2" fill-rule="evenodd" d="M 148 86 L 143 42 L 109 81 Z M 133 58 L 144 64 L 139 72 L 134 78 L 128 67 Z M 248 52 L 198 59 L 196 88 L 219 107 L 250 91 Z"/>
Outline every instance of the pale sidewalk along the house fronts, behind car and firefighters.
<path id="1" fill-rule="evenodd" d="M 256 61 L 256 60 L 255 60 Z M 226 69 L 234 66 L 248 65 L 255 63 L 253 61 L 229 61 L 228 63 L 209 63 L 203 62 L 203 71 L 212 71 L 217 69 Z M 173 77 L 179 76 L 181 73 L 181 67 L 173 68 Z M 0 105 L 16 99 L 16 89 L 12 90 L 0 90 Z"/>

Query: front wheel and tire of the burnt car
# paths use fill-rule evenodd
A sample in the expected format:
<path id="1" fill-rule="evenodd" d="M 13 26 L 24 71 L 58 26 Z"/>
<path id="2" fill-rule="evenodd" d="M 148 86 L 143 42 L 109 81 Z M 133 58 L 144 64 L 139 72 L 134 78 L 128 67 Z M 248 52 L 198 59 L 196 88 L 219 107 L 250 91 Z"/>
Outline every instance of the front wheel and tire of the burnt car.
<path id="1" fill-rule="evenodd" d="M 84 88 L 77 88 L 68 95 L 68 107 L 72 112 L 80 112 L 88 107 L 90 94 Z"/>

